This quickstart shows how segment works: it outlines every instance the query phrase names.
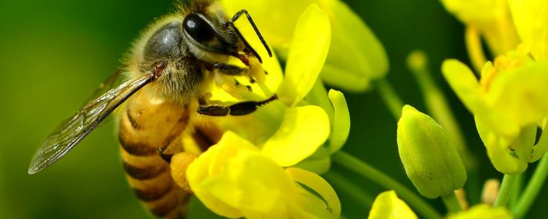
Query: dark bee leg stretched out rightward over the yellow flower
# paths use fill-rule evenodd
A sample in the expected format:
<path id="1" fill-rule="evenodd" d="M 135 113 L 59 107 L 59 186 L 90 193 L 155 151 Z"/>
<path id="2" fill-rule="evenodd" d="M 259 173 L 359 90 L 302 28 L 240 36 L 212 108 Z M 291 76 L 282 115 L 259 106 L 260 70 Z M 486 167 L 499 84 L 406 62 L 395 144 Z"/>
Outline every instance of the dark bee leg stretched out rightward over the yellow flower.
<path id="1" fill-rule="evenodd" d="M 245 101 L 233 105 L 203 105 L 198 107 L 198 114 L 206 116 L 244 116 L 257 110 L 257 107 L 278 99 L 274 94 L 264 101 Z"/>

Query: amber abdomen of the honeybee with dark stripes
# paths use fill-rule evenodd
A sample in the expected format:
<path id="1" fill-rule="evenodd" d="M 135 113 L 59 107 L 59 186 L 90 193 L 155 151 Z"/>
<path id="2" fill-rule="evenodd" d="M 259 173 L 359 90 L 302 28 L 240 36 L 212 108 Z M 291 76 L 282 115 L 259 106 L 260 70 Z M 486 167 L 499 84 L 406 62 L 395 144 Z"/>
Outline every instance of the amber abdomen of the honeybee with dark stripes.
<path id="1" fill-rule="evenodd" d="M 155 216 L 182 217 L 190 194 L 174 183 L 158 149 L 167 146 L 169 154 L 182 151 L 179 137 L 188 124 L 188 112 L 141 92 L 127 101 L 119 119 L 123 168 L 137 198 Z"/>

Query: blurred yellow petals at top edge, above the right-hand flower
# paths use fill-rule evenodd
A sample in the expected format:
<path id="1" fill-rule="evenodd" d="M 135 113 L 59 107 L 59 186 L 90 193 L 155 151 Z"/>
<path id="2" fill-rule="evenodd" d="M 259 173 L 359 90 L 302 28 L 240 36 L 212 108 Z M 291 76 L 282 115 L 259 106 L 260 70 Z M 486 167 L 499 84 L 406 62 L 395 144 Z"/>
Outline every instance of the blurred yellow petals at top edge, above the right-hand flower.
<path id="1" fill-rule="evenodd" d="M 441 0 L 468 28 L 479 31 L 495 55 L 516 49 L 519 38 L 507 0 Z"/>

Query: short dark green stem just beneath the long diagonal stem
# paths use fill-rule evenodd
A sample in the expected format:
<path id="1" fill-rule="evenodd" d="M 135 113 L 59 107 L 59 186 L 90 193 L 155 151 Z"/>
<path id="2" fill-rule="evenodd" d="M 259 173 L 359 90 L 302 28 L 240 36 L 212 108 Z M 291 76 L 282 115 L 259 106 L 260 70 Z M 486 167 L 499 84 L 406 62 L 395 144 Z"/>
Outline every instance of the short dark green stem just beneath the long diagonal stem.
<path id="1" fill-rule="evenodd" d="M 338 190 L 343 190 L 345 194 L 352 196 L 352 198 L 360 202 L 359 204 L 361 207 L 371 209 L 371 206 L 373 205 L 373 197 L 363 192 L 363 190 L 353 181 L 350 181 L 333 169 L 329 170 L 329 172 L 326 172 L 324 175 L 322 175 L 322 177 L 327 180 L 329 184 L 333 185 L 334 188 Z"/>

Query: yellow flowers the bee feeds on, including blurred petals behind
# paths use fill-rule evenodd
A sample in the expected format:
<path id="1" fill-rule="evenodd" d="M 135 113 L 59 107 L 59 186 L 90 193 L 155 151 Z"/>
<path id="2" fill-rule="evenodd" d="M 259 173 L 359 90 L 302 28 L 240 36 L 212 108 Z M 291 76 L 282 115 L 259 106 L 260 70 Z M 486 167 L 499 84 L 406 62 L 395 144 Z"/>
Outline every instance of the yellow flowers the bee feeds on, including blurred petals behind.
<path id="1" fill-rule="evenodd" d="M 273 1 L 223 4 L 229 13 L 246 8 L 253 14 L 286 65 L 282 71 L 276 57 L 265 59 L 262 65 L 250 60 L 251 71 L 259 72 L 253 73 L 256 83 L 241 81 L 252 92 L 221 86 L 214 88 L 210 100 L 259 100 L 277 94 L 279 101 L 262 105 L 248 116 L 215 120 L 227 131 L 196 158 L 175 155 L 172 175 L 179 177 L 175 181 L 194 192 L 216 214 L 229 218 L 338 218 L 338 197 L 317 174 L 329 170 L 329 155 L 345 144 L 350 119 L 343 93 L 327 92 L 323 81 L 348 90 L 366 89 L 371 79 L 386 73 L 388 64 L 382 46 L 340 1 L 307 1 L 290 11 Z M 269 19 L 276 18 L 276 14 L 284 19 L 273 22 L 281 25 L 274 27 L 272 21 L 265 22 L 266 14 L 260 10 L 266 8 Z M 249 25 L 236 25 L 244 36 L 253 36 Z M 348 27 L 356 30 L 356 25 L 361 35 L 354 37 L 369 37 L 366 42 L 373 47 L 355 50 L 353 55 L 371 63 L 360 62 L 362 66 L 357 69 L 345 69 L 356 68 L 356 64 L 337 54 L 342 47 L 353 47 L 341 34 L 347 34 Z M 260 42 L 249 43 L 255 47 Z M 330 47 L 332 44 L 339 47 Z M 373 57 L 375 60 L 371 60 Z M 261 76 L 262 69 L 266 77 Z M 340 77 L 339 72 L 352 78 Z"/>

